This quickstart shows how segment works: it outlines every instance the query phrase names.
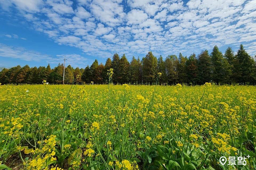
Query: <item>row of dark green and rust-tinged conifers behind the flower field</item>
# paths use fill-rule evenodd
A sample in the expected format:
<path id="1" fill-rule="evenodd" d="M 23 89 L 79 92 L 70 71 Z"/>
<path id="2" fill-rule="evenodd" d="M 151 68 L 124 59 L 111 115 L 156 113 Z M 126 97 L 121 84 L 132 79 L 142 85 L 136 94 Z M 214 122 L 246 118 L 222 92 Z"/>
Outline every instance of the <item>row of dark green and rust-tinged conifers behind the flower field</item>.
<path id="1" fill-rule="evenodd" d="M 255 56 L 256 57 L 256 56 Z M 159 85 L 175 85 L 177 83 L 187 85 L 203 85 L 206 82 L 214 82 L 217 85 L 239 84 L 256 85 L 256 62 L 240 45 L 237 54 L 230 47 L 223 55 L 217 46 L 212 53 L 202 51 L 198 56 L 195 53 L 189 57 L 168 55 L 165 60 L 162 55 L 157 59 L 152 52 L 141 60 L 132 57 L 128 62 L 125 55 L 121 58 L 117 53 L 107 59 L 105 65 L 95 60 L 92 65 L 84 69 L 75 69 L 68 65 L 65 68 L 65 84 L 106 84 L 108 70 L 114 69 L 113 84 L 140 84 L 152 85 L 156 82 L 157 73 L 162 73 L 158 80 Z M 50 84 L 62 84 L 63 64 L 51 69 L 47 67 L 20 67 L 4 68 L 0 72 L 2 84 L 42 84 L 47 80 Z M 79 76 L 77 76 L 79 75 Z"/>

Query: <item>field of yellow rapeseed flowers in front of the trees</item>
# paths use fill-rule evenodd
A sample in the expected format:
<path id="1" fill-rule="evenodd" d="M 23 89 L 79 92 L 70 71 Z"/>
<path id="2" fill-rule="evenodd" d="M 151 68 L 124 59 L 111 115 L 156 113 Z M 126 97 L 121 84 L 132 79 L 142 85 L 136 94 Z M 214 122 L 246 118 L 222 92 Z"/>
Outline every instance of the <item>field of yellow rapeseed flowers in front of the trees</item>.
<path id="1" fill-rule="evenodd" d="M 255 111 L 254 86 L 1 85 L 0 169 L 255 169 Z"/>

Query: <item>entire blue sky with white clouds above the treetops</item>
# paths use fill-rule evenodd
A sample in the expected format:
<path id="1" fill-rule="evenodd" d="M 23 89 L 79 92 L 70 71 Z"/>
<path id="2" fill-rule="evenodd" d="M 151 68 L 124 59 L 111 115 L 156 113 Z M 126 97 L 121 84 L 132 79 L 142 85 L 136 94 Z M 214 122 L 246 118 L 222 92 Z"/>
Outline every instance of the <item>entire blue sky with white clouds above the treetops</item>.
<path id="1" fill-rule="evenodd" d="M 0 0 L 0 67 L 84 68 L 244 44 L 256 54 L 256 0 Z"/>

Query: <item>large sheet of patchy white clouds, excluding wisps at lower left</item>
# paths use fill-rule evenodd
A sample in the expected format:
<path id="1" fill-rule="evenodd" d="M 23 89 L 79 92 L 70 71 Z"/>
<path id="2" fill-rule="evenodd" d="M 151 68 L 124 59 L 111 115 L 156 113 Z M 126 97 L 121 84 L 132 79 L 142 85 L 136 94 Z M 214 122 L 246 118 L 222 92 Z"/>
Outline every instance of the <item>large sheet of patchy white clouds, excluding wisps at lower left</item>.
<path id="1" fill-rule="evenodd" d="M 214 45 L 256 54 L 256 0 L 9 0 L 33 28 L 87 55 L 189 55 Z M 6 35 L 8 36 L 8 35 Z"/>

